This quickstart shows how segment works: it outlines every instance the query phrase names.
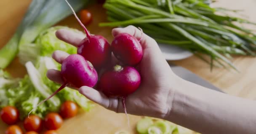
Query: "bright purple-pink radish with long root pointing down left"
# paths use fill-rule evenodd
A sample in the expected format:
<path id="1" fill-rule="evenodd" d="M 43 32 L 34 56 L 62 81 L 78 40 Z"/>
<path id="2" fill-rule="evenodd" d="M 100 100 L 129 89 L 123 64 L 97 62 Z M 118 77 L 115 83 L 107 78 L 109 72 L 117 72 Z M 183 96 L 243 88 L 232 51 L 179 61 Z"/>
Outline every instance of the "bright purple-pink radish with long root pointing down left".
<path id="1" fill-rule="evenodd" d="M 93 87 L 98 81 L 98 74 L 92 64 L 79 54 L 72 54 L 64 59 L 61 64 L 61 76 L 65 81 L 64 84 L 51 96 L 41 101 L 37 106 L 53 97 L 67 85 L 72 85 L 75 88 L 80 88 L 82 86 Z M 37 108 L 37 106 L 35 108 Z M 33 108 L 32 111 L 35 108 Z M 32 111 L 30 111 L 29 114 Z"/>

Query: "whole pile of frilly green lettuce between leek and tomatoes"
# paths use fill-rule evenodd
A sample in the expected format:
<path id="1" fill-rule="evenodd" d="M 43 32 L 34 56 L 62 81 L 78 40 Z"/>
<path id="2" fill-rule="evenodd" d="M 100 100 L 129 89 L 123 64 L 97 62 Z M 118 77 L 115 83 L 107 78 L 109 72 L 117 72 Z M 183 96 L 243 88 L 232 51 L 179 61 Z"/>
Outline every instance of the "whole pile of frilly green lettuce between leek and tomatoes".
<path id="1" fill-rule="evenodd" d="M 33 43 L 23 44 L 19 55 L 22 55 L 21 61 L 26 63 L 28 74 L 25 77 L 22 79 L 12 78 L 7 72 L 0 70 L 0 108 L 15 106 L 18 108 L 22 120 L 38 103 L 61 86 L 46 77 L 48 69 L 59 70 L 61 67 L 61 64 L 51 58 L 51 54 L 55 50 L 64 50 L 69 54 L 75 54 L 76 48 L 56 38 L 55 32 L 60 28 L 67 27 L 49 28 L 40 33 Z M 79 32 L 72 28 L 68 29 Z M 64 101 L 74 101 L 85 111 L 90 110 L 93 106 L 93 103 L 77 90 L 64 88 L 38 106 L 32 114 L 43 118 L 50 111 L 59 111 L 59 107 Z"/>

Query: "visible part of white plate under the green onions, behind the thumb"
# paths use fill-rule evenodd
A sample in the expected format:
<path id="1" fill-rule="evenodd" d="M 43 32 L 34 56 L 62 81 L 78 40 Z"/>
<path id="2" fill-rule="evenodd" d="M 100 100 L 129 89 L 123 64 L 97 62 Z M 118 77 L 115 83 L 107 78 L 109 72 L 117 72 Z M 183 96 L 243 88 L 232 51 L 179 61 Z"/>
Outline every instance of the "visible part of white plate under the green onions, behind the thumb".
<path id="1" fill-rule="evenodd" d="M 193 54 L 177 46 L 158 44 L 166 60 L 180 60 L 191 57 Z"/>

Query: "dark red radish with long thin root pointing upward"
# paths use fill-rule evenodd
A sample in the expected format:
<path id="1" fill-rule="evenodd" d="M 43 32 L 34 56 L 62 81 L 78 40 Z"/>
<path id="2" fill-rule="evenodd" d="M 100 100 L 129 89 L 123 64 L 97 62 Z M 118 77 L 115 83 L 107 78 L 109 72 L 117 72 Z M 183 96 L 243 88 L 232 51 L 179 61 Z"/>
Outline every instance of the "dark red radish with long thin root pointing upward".
<path id="1" fill-rule="evenodd" d="M 67 0 L 66 0 L 67 2 Z M 69 3 L 67 2 L 69 5 Z M 83 23 L 77 17 L 75 11 L 69 5 L 72 12 L 75 15 L 75 18 L 80 23 L 80 25 L 85 30 L 87 38 L 83 39 L 80 45 L 77 48 L 77 54 L 81 54 L 85 59 L 93 64 L 97 69 L 102 67 L 105 63 L 109 62 L 111 59 L 111 47 L 103 36 L 100 35 L 91 35 L 88 30 L 85 28 Z"/>

